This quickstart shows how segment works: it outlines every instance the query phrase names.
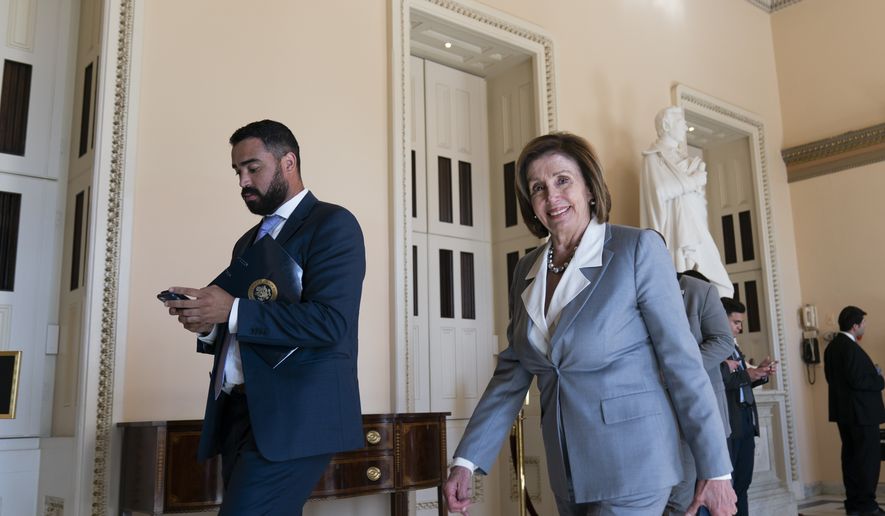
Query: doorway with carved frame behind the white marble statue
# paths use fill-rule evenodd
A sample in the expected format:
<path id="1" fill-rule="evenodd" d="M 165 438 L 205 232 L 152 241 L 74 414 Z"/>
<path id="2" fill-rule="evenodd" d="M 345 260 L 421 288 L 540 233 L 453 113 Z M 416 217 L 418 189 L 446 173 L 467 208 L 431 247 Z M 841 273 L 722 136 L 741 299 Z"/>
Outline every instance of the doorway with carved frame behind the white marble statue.
<path id="1" fill-rule="evenodd" d="M 779 271 L 774 247 L 771 192 L 765 160 L 765 126 L 756 115 L 693 90 L 674 89 L 685 110 L 689 145 L 707 162 L 709 227 L 735 285 L 747 306 L 741 348 L 757 361 L 770 356 L 782 365 L 774 381 L 756 396 L 760 436 L 750 486 L 750 512 L 796 512 L 796 434 L 789 395 L 789 362 L 784 307 L 776 295 Z"/>

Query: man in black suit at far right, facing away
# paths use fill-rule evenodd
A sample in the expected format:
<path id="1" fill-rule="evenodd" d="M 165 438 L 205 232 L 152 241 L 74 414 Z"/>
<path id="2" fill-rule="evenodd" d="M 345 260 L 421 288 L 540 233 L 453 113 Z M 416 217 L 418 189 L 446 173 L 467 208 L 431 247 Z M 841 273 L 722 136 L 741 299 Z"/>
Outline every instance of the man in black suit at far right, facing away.
<path id="1" fill-rule="evenodd" d="M 879 482 L 879 425 L 885 422 L 882 371 L 857 341 L 866 328 L 866 312 L 846 306 L 839 333 L 824 351 L 824 374 L 830 391 L 830 421 L 842 438 L 842 481 L 848 514 L 885 514 L 876 503 Z"/>

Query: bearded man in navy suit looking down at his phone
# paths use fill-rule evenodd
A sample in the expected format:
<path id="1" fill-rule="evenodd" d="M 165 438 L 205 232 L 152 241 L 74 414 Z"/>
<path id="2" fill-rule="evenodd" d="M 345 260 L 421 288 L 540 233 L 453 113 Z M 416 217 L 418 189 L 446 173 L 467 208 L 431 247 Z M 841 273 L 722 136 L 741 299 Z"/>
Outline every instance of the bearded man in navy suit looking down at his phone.
<path id="1" fill-rule="evenodd" d="M 332 455 L 363 443 L 357 384 L 363 236 L 350 212 L 304 188 L 298 142 L 286 126 L 254 122 L 230 143 L 241 196 L 264 216 L 237 241 L 233 257 L 267 232 L 301 267 L 301 301 L 174 287 L 193 299 L 167 306 L 201 334 L 197 351 L 215 355 L 199 458 L 221 453 L 219 514 L 301 514 Z M 271 368 L 256 345 L 297 349 Z"/>

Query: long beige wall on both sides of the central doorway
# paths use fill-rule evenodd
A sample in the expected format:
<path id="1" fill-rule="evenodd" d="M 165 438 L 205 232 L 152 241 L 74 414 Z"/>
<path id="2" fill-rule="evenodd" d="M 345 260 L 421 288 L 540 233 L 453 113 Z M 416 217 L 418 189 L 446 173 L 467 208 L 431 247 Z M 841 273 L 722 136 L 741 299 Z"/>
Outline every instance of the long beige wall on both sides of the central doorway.
<path id="1" fill-rule="evenodd" d="M 640 152 L 654 140 L 654 115 L 672 102 L 675 83 L 764 121 L 786 339 L 798 342 L 799 278 L 785 169 L 777 159 L 782 124 L 770 17 L 742 0 L 487 4 L 552 37 L 559 127 L 597 146 L 614 222 L 638 223 Z M 293 128 L 307 185 L 362 223 L 363 408 L 391 408 L 388 2 L 243 6 L 233 0 L 144 5 L 123 419 L 202 415 L 210 357 L 194 353 L 193 339 L 154 294 L 209 281 L 254 222 L 237 196 L 226 139 L 261 117 Z M 804 369 L 791 363 L 786 374 L 797 395 L 799 443 L 810 450 Z M 800 466 L 811 475 L 804 459 Z"/>

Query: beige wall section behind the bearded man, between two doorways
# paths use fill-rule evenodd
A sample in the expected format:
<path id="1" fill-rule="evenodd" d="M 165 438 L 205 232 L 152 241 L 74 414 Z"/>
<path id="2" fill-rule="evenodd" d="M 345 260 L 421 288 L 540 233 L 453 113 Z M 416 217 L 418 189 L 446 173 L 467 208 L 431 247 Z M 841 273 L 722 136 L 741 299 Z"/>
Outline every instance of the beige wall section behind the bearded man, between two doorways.
<path id="1" fill-rule="evenodd" d="M 208 283 L 256 222 L 239 198 L 227 139 L 261 118 L 292 128 L 305 184 L 362 224 L 363 410 L 388 411 L 385 3 L 145 2 L 143 45 L 122 417 L 202 417 L 211 357 L 194 352 L 154 295 Z"/>

